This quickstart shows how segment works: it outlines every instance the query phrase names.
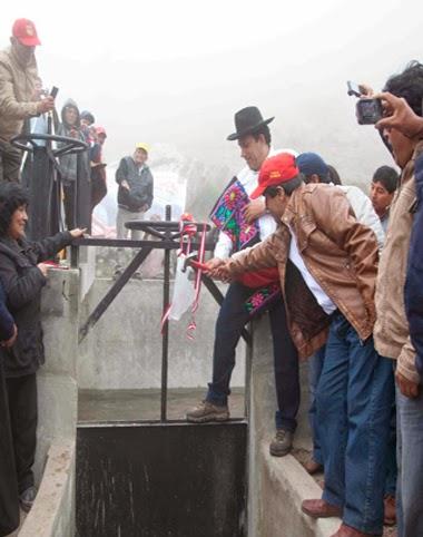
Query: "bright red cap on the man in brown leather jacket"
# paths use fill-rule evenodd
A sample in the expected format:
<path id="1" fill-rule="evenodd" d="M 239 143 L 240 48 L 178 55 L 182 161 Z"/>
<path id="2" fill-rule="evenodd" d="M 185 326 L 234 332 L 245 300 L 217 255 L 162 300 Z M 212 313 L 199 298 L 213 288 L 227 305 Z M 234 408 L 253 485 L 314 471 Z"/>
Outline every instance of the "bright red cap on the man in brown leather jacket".
<path id="1" fill-rule="evenodd" d="M 268 186 L 277 186 L 286 183 L 299 174 L 296 167 L 295 157 L 289 153 L 281 153 L 274 157 L 267 158 L 260 167 L 258 174 L 258 186 L 249 195 L 252 199 L 263 196 Z"/>

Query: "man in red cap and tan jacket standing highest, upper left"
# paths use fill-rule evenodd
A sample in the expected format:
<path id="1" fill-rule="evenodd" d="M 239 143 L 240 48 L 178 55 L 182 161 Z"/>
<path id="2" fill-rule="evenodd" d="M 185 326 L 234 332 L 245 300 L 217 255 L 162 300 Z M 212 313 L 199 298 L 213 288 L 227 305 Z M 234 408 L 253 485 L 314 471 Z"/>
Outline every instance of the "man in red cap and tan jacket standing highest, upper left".
<path id="1" fill-rule="evenodd" d="M 33 22 L 18 19 L 12 27 L 10 47 L 0 51 L 0 183 L 19 180 L 22 155 L 10 139 L 21 133 L 23 120 L 55 108 L 52 97 L 39 99 L 37 45 L 40 40 Z"/>

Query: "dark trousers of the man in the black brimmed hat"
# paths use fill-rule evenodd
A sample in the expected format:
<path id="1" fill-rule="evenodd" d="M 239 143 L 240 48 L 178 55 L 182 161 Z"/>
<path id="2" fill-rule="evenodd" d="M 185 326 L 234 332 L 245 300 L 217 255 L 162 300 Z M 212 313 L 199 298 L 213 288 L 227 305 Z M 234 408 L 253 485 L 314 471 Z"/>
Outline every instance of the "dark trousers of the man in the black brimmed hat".
<path id="1" fill-rule="evenodd" d="M 250 321 L 245 301 L 253 290 L 233 283 L 229 285 L 216 321 L 213 357 L 213 381 L 208 384 L 207 400 L 215 404 L 227 404 L 229 383 L 235 367 L 235 349 L 245 324 Z M 299 407 L 298 354 L 291 339 L 282 299 L 269 309 L 273 335 L 275 383 L 278 410 L 276 427 L 289 431 L 296 428 Z"/>

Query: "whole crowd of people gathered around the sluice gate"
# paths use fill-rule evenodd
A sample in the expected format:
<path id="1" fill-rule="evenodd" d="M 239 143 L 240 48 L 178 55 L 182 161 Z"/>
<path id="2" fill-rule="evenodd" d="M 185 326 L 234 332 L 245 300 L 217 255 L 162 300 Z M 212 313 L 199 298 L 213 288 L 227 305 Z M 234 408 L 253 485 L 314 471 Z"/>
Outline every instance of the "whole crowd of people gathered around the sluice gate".
<path id="1" fill-rule="evenodd" d="M 102 127 L 90 111 L 65 102 L 56 133 L 87 144 L 60 156 L 66 225 L 39 242 L 24 236 L 29 199 L 19 185 L 21 153 L 11 138 L 24 123 L 52 114 L 41 98 L 35 25 L 19 19 L 0 52 L 0 534 L 17 526 L 19 505 L 36 497 L 36 372 L 43 361 L 40 294 L 51 258 L 85 230 L 76 227 L 75 184 L 86 182 L 90 214 L 107 193 Z M 229 419 L 235 350 L 245 324 L 267 311 L 274 346 L 277 411 L 269 445 L 293 447 L 301 399 L 298 361 L 309 362 L 309 421 L 314 449 L 305 465 L 324 472 L 322 498 L 305 515 L 338 516 L 333 537 L 382 535 L 397 520 L 400 537 L 423 535 L 423 65 L 390 77 L 376 124 L 400 168 L 378 167 L 368 196 L 345 185 L 317 153 L 275 149 L 257 107 L 235 115 L 246 166 L 213 212 L 219 228 L 208 273 L 230 282 L 216 322 L 212 381 L 187 412 L 196 423 Z M 40 128 L 27 121 L 27 128 Z M 37 126 L 38 125 L 38 126 Z M 32 130 L 33 131 L 33 130 Z M 311 148 L 312 149 L 312 148 Z M 120 160 L 118 238 L 125 223 L 150 208 L 149 149 L 137 144 Z M 387 155 L 388 156 L 388 155 Z M 242 201 L 235 206 L 234 199 Z M 229 225 L 230 221 L 230 225 Z M 140 238 L 136 233 L 132 238 Z M 120 266 L 117 267 L 119 272 Z M 396 498 L 396 501 L 395 501 Z"/>

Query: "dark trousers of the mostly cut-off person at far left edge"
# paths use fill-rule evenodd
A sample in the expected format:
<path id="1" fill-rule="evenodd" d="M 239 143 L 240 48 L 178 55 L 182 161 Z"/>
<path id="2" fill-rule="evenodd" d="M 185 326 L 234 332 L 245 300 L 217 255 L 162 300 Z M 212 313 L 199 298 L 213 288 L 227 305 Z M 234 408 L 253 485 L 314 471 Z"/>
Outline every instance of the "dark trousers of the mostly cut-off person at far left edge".
<path id="1" fill-rule="evenodd" d="M 19 526 L 18 481 L 2 361 L 0 360 L 0 536 Z"/>

